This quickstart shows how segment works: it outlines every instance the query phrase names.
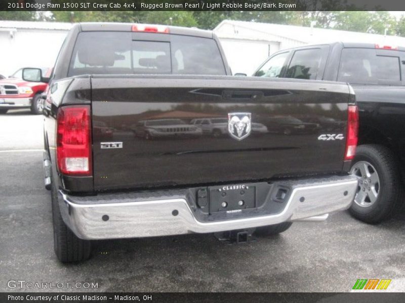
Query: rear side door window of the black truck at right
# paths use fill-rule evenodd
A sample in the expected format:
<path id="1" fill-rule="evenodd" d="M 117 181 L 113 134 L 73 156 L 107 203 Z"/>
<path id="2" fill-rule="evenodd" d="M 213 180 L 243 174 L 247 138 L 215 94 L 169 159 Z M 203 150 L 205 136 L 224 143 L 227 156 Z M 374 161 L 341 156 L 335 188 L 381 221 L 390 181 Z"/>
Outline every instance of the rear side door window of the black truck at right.
<path id="1" fill-rule="evenodd" d="M 321 56 L 320 48 L 296 51 L 287 69 L 286 78 L 315 80 L 318 75 Z"/>

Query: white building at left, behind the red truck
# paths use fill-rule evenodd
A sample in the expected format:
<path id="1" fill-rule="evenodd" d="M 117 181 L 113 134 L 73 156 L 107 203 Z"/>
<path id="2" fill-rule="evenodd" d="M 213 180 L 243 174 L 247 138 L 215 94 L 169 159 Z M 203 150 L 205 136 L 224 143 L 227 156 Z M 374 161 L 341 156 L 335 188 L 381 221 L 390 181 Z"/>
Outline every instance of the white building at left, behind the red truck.
<path id="1" fill-rule="evenodd" d="M 58 22 L 0 21 L 0 74 L 22 67 L 52 67 L 72 25 Z"/>

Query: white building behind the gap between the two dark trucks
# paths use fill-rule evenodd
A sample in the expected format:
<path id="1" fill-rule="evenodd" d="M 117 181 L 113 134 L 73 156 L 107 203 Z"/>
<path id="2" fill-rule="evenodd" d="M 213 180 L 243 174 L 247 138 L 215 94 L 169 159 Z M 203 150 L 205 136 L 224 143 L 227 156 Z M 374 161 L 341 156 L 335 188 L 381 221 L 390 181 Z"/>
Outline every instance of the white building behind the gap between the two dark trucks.
<path id="1" fill-rule="evenodd" d="M 285 48 L 328 42 L 405 46 L 405 38 L 291 25 L 224 20 L 214 32 L 233 73 L 251 75 L 271 54 Z"/>

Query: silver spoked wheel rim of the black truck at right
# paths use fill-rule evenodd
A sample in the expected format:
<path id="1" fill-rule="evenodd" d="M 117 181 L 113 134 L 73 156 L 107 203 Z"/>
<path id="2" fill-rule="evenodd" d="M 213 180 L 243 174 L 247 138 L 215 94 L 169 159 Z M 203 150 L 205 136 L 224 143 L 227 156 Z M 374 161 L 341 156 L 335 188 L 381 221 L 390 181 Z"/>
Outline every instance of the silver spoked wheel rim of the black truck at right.
<path id="1" fill-rule="evenodd" d="M 361 207 L 372 206 L 380 192 L 380 178 L 376 169 L 367 161 L 359 161 L 353 165 L 350 173 L 360 177 L 354 203 Z"/>

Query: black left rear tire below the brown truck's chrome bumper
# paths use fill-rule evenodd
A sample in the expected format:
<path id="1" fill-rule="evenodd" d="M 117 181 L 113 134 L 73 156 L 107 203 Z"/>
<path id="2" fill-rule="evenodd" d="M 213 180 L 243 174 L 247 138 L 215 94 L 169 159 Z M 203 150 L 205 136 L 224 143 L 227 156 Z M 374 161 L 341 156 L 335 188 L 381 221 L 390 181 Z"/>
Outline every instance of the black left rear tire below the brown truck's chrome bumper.
<path id="1" fill-rule="evenodd" d="M 51 178 L 52 179 L 52 178 Z M 52 180 L 52 218 L 54 226 L 54 249 L 60 262 L 85 261 L 91 255 L 91 242 L 78 238 L 63 222 L 59 209 L 55 182 Z"/>

